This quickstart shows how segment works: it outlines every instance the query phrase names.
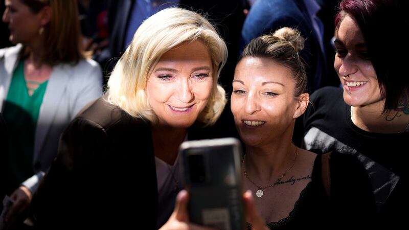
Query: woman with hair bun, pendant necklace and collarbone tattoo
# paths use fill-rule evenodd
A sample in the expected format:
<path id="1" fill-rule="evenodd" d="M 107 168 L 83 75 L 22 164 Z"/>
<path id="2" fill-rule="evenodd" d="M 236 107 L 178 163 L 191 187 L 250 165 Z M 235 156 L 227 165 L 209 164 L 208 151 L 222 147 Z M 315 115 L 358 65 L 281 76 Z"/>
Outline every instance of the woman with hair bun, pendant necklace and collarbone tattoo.
<path id="1" fill-rule="evenodd" d="M 253 39 L 236 66 L 231 109 L 245 144 L 244 188 L 271 229 L 368 223 L 375 208 L 359 162 L 335 152 L 328 162 L 291 142 L 309 103 L 303 47 L 296 29 L 281 28 Z"/>

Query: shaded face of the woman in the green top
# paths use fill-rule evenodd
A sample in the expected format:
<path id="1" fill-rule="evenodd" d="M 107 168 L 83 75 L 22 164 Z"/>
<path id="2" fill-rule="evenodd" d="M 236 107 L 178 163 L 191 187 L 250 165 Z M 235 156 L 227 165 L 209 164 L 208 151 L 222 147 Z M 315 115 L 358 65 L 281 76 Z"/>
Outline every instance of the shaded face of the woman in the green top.
<path id="1" fill-rule="evenodd" d="M 38 36 L 41 15 L 32 13 L 30 8 L 19 0 L 6 0 L 5 3 L 3 21 L 9 26 L 10 41 L 27 44 L 33 37 Z"/>

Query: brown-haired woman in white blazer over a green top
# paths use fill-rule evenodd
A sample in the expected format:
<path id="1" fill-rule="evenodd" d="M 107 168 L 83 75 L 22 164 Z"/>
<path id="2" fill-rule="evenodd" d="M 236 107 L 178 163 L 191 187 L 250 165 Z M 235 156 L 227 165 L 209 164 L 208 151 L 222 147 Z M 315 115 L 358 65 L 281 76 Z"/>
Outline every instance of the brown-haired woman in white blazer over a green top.
<path id="1" fill-rule="evenodd" d="M 6 0 L 5 6 L 3 21 L 16 44 L 0 50 L 0 109 L 8 127 L 0 176 L 14 200 L 5 217 L 11 225 L 27 216 L 57 155 L 59 136 L 85 104 L 102 95 L 103 79 L 81 48 L 75 1 Z"/>

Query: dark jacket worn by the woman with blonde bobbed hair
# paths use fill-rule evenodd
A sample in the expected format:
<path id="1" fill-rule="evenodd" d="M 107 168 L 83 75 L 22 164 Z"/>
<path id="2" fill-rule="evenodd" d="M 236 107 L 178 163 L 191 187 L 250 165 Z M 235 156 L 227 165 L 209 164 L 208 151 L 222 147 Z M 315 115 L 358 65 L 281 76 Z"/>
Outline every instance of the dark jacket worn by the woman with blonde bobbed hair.
<path id="1" fill-rule="evenodd" d="M 150 124 L 100 98 L 61 136 L 32 209 L 39 229 L 154 229 L 157 202 Z"/>

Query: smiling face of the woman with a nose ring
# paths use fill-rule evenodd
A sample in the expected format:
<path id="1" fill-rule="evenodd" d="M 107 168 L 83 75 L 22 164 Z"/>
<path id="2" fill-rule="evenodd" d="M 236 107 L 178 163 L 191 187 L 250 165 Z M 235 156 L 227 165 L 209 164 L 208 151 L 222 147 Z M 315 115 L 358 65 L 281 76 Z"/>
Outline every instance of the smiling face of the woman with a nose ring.
<path id="1" fill-rule="evenodd" d="M 382 97 L 374 67 L 358 24 L 346 15 L 336 34 L 334 67 L 344 84 L 344 100 L 351 106 L 380 103 Z"/>

